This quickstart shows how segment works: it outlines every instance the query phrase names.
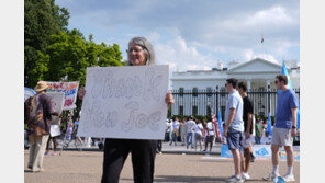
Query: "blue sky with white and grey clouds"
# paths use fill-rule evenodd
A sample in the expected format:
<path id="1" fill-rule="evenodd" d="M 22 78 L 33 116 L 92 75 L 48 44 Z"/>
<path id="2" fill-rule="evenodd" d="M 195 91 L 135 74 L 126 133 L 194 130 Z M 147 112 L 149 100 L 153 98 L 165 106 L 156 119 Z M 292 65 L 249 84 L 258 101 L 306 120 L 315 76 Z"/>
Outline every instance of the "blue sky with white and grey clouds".
<path id="1" fill-rule="evenodd" d="M 209 70 L 221 60 L 261 57 L 300 61 L 299 0 L 57 0 L 70 12 L 69 28 L 108 45 L 125 60 L 128 41 L 145 36 L 157 64 Z M 260 43 L 264 36 L 264 44 Z"/>

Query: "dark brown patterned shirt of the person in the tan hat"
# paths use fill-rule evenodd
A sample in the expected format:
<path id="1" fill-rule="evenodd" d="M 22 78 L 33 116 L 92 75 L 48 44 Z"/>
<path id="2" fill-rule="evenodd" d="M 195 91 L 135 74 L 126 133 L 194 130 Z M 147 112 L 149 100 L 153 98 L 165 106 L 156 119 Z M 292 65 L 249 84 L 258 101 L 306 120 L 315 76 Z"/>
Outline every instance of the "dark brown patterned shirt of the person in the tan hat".
<path id="1" fill-rule="evenodd" d="M 25 118 L 24 123 L 29 126 L 29 131 L 33 130 L 33 134 L 36 136 L 47 135 L 48 133 L 45 131 L 45 129 L 40 127 L 40 123 L 43 119 L 43 111 L 37 110 L 40 100 L 38 95 L 33 95 L 29 98 L 25 102 Z M 45 126 L 47 124 L 45 123 Z"/>

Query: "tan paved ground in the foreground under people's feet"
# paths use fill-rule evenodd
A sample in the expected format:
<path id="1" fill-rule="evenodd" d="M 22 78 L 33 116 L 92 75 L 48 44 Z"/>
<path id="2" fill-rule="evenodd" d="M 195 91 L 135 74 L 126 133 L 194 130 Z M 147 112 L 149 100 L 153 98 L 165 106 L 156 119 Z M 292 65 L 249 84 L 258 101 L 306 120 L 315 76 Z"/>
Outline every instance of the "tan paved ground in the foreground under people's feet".
<path id="1" fill-rule="evenodd" d="M 131 156 L 121 172 L 121 183 L 133 182 Z M 103 152 L 101 151 L 63 151 L 61 156 L 45 156 L 44 172 L 32 173 L 27 170 L 29 150 L 24 152 L 25 183 L 94 183 L 102 175 Z M 157 155 L 154 182 L 224 182 L 234 172 L 232 159 L 205 155 Z M 264 182 L 262 176 L 271 170 L 270 160 L 256 160 L 250 167 L 251 180 Z M 280 173 L 287 171 L 285 162 L 280 162 Z M 295 162 L 293 172 L 300 181 L 300 163 Z"/>

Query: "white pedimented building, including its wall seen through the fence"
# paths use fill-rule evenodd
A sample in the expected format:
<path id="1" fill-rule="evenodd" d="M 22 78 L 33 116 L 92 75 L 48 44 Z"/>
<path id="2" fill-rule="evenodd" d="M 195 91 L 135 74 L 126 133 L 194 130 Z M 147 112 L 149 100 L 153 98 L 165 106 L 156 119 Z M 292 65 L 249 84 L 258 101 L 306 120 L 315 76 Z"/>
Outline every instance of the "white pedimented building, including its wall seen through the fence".
<path id="1" fill-rule="evenodd" d="M 284 61 L 289 70 L 290 80 L 294 89 L 300 88 L 300 67 L 296 61 L 288 60 Z M 224 68 L 223 62 L 217 61 L 216 68 L 211 70 L 192 70 L 192 71 L 176 71 L 171 76 L 171 88 L 173 90 L 225 90 L 226 79 L 236 78 L 238 81 L 245 80 L 247 82 L 247 88 L 255 90 L 267 90 L 276 89 L 274 80 L 276 76 L 281 73 L 282 65 L 274 64 L 261 58 L 255 58 L 246 62 L 232 61 L 228 64 L 229 68 Z M 189 101 L 191 100 L 191 101 Z M 172 105 L 171 115 L 205 115 L 205 105 L 215 106 L 216 99 L 198 99 L 198 98 L 176 98 L 176 104 Z M 259 99 L 259 101 L 254 101 L 256 103 L 261 103 L 264 107 L 270 107 L 270 105 L 276 105 L 273 101 L 270 105 L 266 104 L 265 101 L 268 99 Z M 215 107 L 214 107 L 215 110 Z M 180 112 L 182 111 L 182 112 Z M 270 110 L 271 115 L 274 114 L 273 110 Z"/>

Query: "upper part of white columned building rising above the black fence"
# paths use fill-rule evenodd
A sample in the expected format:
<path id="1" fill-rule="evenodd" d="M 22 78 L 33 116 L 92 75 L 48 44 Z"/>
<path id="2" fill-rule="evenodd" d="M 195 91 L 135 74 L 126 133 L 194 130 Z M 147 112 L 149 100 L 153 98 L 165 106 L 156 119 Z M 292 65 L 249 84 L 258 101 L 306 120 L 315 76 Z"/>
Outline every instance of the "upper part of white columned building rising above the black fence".
<path id="1" fill-rule="evenodd" d="M 291 64 L 288 69 L 293 88 L 299 89 L 300 67 Z M 270 89 L 276 89 L 274 78 L 281 73 L 281 70 L 282 65 L 255 58 L 246 62 L 236 64 L 231 68 L 223 68 L 222 62 L 217 62 L 217 68 L 211 70 L 172 72 L 170 80 L 173 90 L 180 88 L 184 90 L 192 90 L 193 88 L 206 90 L 208 88 L 215 89 L 216 87 L 223 89 L 228 78 L 236 78 L 239 81 L 245 80 L 248 89 L 266 89 L 268 85 L 270 85 Z"/>

